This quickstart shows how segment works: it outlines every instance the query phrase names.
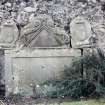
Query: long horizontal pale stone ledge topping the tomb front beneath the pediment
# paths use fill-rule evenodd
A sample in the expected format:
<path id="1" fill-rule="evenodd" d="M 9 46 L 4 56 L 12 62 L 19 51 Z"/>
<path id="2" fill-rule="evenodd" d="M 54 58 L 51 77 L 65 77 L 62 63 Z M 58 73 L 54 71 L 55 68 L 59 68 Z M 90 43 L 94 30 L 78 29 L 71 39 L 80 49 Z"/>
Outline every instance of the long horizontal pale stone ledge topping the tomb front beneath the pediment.
<path id="1" fill-rule="evenodd" d="M 22 49 L 19 51 L 5 50 L 5 55 L 13 58 L 38 58 L 38 57 L 76 57 L 81 55 L 80 49 Z"/>

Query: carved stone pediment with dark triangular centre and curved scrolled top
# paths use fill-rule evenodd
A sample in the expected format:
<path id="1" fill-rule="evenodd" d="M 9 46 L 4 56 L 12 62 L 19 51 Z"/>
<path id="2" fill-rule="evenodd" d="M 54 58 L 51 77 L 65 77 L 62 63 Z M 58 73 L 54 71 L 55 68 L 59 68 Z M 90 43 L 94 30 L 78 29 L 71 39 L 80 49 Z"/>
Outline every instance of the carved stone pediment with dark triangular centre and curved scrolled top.
<path id="1" fill-rule="evenodd" d="M 27 47 L 62 47 L 69 44 L 69 36 L 50 17 L 40 16 L 22 29 L 20 42 Z"/>

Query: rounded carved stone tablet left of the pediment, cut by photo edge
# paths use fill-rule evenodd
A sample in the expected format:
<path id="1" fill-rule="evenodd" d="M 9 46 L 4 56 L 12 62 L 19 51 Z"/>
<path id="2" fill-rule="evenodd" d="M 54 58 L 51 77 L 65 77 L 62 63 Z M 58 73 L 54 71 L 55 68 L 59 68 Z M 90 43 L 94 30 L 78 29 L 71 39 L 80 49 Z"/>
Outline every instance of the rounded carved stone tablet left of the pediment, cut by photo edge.
<path id="1" fill-rule="evenodd" d="M 9 46 L 15 43 L 18 29 L 12 19 L 5 20 L 0 27 L 0 46 Z"/>

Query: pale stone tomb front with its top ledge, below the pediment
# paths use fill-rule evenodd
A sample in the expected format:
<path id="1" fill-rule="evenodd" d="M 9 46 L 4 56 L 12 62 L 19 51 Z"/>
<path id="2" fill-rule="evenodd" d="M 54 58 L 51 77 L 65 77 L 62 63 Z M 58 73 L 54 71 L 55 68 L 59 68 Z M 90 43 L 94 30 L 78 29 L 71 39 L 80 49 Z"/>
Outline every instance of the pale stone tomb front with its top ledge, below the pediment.
<path id="1" fill-rule="evenodd" d="M 6 51 L 7 95 L 11 92 L 31 94 L 31 84 L 39 85 L 45 80 L 59 78 L 59 72 L 69 67 L 72 60 L 80 55 L 80 50 L 75 49 L 24 49 L 18 53 Z"/>

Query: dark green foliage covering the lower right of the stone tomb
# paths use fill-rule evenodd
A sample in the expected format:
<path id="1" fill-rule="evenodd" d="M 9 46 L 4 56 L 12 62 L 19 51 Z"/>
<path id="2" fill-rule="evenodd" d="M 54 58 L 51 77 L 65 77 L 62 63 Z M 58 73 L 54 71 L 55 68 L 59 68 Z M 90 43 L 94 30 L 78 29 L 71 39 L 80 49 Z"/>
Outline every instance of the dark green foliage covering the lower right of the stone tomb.
<path id="1" fill-rule="evenodd" d="M 83 74 L 81 64 L 84 67 Z M 80 98 L 105 94 L 105 55 L 100 49 L 74 60 L 72 66 L 65 68 L 61 74 L 59 80 L 45 83 L 56 87 L 54 91 L 49 91 L 50 95 L 47 96 Z"/>

